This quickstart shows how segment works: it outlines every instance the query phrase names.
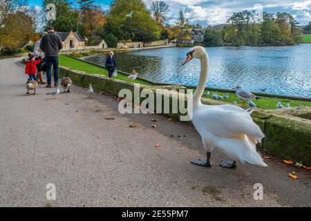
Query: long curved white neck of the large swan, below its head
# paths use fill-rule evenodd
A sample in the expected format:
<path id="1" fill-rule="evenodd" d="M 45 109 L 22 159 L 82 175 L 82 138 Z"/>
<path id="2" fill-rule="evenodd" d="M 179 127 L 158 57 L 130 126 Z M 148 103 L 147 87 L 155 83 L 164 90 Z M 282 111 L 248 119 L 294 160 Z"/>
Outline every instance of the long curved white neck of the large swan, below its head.
<path id="1" fill-rule="evenodd" d="M 209 68 L 209 57 L 205 52 L 204 55 L 200 58 L 201 63 L 201 72 L 198 87 L 196 88 L 196 92 L 194 93 L 194 107 L 201 104 L 201 97 L 205 90 L 206 80 L 207 80 L 207 71 Z"/>

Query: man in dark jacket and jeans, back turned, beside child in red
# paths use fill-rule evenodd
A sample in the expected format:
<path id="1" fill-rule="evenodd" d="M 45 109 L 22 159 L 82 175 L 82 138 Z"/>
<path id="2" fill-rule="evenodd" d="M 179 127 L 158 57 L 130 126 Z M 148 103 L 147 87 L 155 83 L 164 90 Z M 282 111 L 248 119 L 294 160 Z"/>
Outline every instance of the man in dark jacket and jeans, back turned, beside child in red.
<path id="1" fill-rule="evenodd" d="M 40 43 L 40 49 L 44 52 L 44 62 L 46 64 L 47 88 L 51 87 L 52 64 L 54 68 L 54 86 L 58 84 L 58 55 L 59 50 L 62 48 L 62 39 L 55 34 L 53 27 L 48 27 L 48 34 L 42 37 Z"/>

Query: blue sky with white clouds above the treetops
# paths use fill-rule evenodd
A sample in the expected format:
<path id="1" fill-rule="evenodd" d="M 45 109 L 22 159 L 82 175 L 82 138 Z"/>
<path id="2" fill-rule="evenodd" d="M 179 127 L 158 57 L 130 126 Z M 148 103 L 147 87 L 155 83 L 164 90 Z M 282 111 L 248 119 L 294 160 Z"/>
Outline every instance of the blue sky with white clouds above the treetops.
<path id="1" fill-rule="evenodd" d="M 73 5 L 77 1 L 69 0 Z M 143 0 L 147 6 L 150 6 L 153 0 Z M 265 12 L 289 12 L 301 23 L 308 24 L 311 21 L 311 0 L 162 0 L 169 5 L 169 22 L 175 23 L 178 18 L 178 10 L 185 12 L 189 23 L 200 23 L 202 26 L 217 25 L 225 23 L 233 12 L 242 10 L 253 10 L 259 6 L 263 7 Z M 111 0 L 96 0 L 104 10 L 109 10 Z M 256 6 L 257 4 L 257 6 Z M 41 6 L 41 0 L 30 2 L 30 6 Z"/>

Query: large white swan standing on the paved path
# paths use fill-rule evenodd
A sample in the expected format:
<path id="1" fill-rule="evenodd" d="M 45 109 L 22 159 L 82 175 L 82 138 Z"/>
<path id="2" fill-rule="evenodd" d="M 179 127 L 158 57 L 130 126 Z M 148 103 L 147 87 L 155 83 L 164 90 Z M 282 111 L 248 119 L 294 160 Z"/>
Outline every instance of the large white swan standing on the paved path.
<path id="1" fill-rule="evenodd" d="M 205 48 L 196 46 L 187 53 L 184 66 L 193 58 L 200 59 L 201 72 L 198 88 L 189 99 L 192 105 L 192 122 L 200 133 L 207 151 L 207 160 L 191 162 L 198 166 L 211 166 L 209 161 L 212 151 L 218 151 L 230 157 L 230 161 L 220 162 L 220 166 L 234 168 L 236 161 L 248 162 L 258 166 L 267 166 L 261 155 L 256 152 L 256 143 L 265 135 L 250 117 L 252 111 L 245 111 L 238 106 L 225 104 L 218 106 L 203 105 L 200 101 L 205 90 L 208 70 L 208 55 Z M 188 109 L 189 110 L 189 109 Z"/>

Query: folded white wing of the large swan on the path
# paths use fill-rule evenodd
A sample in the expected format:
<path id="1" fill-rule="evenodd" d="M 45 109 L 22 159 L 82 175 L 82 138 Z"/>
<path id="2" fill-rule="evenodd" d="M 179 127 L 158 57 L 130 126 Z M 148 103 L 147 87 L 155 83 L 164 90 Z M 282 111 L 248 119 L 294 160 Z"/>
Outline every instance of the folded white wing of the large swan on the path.
<path id="1" fill-rule="evenodd" d="M 247 135 L 261 139 L 265 137 L 261 128 L 252 120 L 246 119 L 243 113 L 224 111 L 221 109 L 200 111 L 198 113 L 200 126 L 219 137 L 239 137 Z"/>

